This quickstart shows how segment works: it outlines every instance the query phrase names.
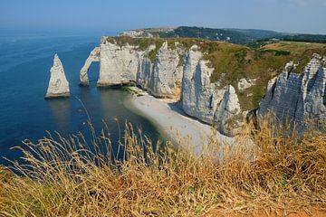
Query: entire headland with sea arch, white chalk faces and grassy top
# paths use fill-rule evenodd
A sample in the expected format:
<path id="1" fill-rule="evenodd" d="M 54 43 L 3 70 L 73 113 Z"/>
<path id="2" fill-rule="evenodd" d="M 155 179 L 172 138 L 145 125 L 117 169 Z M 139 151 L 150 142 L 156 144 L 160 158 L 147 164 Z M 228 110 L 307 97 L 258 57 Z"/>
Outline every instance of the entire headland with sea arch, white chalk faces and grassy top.
<path id="1" fill-rule="evenodd" d="M 325 54 L 325 45 L 318 43 L 277 42 L 250 49 L 199 39 L 102 37 L 81 71 L 81 83 L 87 84 L 83 79 L 91 61 L 100 61 L 99 86 L 136 82 L 155 97 L 180 99 L 189 116 L 233 136 L 262 99 L 259 114 L 271 110 L 281 117 L 289 109 L 292 112 L 291 103 L 282 107 L 289 103 L 287 98 L 293 99 L 291 82 L 298 83 L 293 100 L 302 100 L 306 114 L 324 113 Z M 291 61 L 292 65 L 286 64 Z M 295 73 L 302 71 L 304 75 Z M 289 74 L 297 79 L 286 81 Z M 302 80 L 310 88 L 302 87 Z"/>

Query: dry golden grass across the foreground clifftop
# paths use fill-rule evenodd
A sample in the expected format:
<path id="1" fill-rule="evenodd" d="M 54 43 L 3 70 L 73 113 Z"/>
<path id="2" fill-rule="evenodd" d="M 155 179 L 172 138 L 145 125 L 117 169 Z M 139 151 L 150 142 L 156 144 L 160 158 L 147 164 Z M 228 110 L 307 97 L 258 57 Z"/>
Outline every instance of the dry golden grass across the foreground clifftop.
<path id="1" fill-rule="evenodd" d="M 310 130 L 299 141 L 268 124 L 247 127 L 234 146 L 215 139 L 200 155 L 172 144 L 154 150 L 126 125 L 123 159 L 110 156 L 108 132 L 37 144 L 26 142 L 26 164 L 0 169 L 3 216 L 232 216 L 326 208 L 326 136 Z M 102 147 L 105 147 L 102 150 Z M 321 213 L 323 213 L 321 211 Z"/>

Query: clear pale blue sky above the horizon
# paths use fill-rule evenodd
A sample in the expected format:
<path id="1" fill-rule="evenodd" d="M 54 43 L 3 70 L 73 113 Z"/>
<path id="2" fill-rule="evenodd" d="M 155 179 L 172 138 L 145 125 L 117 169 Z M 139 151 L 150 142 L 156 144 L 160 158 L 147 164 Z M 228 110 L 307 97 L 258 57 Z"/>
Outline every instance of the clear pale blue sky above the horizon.
<path id="1" fill-rule="evenodd" d="M 119 33 L 163 26 L 326 34 L 326 0 L 0 0 L 0 30 Z"/>

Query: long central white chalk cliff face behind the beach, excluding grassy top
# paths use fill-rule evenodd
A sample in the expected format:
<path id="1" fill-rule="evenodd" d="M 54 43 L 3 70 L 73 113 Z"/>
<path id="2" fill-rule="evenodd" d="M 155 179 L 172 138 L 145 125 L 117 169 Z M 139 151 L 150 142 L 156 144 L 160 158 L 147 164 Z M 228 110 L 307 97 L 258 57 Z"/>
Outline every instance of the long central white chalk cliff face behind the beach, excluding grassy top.
<path id="1" fill-rule="evenodd" d="M 244 119 L 235 89 L 210 81 L 214 69 L 207 66 L 197 45 L 189 51 L 178 42 L 140 49 L 138 45 L 120 45 L 103 37 L 100 51 L 99 86 L 132 81 L 155 97 L 182 98 L 182 107 L 189 116 L 215 124 L 229 136 Z"/>

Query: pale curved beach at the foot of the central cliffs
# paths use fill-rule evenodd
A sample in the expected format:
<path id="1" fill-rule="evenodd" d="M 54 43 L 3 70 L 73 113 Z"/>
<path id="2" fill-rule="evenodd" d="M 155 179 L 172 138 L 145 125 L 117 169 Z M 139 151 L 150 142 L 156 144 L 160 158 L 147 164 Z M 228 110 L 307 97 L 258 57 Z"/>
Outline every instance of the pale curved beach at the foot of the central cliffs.
<path id="1" fill-rule="evenodd" d="M 187 145 L 195 153 L 199 153 L 208 142 L 208 137 L 214 135 L 217 141 L 232 144 L 232 137 L 225 137 L 212 131 L 212 127 L 195 118 L 188 117 L 177 102 L 157 99 L 147 92 L 136 90 L 139 94 L 130 95 L 125 105 L 140 116 L 153 122 L 160 132 L 177 144 Z"/>

